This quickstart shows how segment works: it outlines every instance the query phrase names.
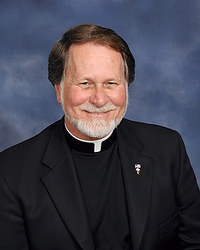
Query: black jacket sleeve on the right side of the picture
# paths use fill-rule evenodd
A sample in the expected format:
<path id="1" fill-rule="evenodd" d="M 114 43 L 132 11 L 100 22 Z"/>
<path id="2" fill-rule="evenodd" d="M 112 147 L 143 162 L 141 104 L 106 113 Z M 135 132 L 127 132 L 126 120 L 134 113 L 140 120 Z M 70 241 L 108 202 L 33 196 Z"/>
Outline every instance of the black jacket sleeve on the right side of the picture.
<path id="1" fill-rule="evenodd" d="M 179 172 L 176 174 L 176 200 L 180 216 L 180 246 L 185 250 L 200 249 L 200 192 L 182 138 L 178 133 L 177 136 Z"/>

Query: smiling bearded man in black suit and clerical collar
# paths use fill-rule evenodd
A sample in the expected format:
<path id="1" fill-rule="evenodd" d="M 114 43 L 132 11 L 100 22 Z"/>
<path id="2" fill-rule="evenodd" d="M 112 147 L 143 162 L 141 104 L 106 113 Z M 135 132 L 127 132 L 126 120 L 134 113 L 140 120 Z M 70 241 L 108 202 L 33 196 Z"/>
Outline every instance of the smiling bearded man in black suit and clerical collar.
<path id="1" fill-rule="evenodd" d="M 134 58 L 83 24 L 49 56 L 64 118 L 0 155 L 1 250 L 200 249 L 200 193 L 180 135 L 123 119 Z"/>

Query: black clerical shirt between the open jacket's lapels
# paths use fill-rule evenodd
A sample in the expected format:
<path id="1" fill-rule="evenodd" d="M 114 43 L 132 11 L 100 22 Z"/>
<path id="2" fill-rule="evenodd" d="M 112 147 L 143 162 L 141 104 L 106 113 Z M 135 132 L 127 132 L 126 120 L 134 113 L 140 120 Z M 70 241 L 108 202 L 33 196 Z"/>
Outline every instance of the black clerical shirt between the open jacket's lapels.
<path id="1" fill-rule="evenodd" d="M 75 141 L 67 131 L 65 133 L 85 199 L 95 249 L 132 250 L 115 133 L 107 139 L 106 146 L 104 142 L 100 152 L 94 152 L 93 143 Z"/>

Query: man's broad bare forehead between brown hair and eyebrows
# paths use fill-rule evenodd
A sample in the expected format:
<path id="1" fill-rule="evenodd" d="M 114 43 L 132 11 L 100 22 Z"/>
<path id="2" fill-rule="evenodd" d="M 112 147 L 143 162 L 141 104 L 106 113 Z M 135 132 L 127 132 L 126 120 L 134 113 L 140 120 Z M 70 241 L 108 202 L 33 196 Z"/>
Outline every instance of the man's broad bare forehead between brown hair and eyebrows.
<path id="1" fill-rule="evenodd" d="M 94 42 L 70 47 L 65 76 L 95 81 L 124 79 L 124 63 L 120 52 Z"/>

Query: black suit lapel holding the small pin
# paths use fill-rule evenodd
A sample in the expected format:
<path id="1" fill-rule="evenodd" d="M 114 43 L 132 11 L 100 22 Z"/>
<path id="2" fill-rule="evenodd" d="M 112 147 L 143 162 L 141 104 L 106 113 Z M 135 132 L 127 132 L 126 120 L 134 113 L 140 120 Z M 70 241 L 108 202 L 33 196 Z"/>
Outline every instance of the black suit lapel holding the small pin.
<path id="1" fill-rule="evenodd" d="M 151 201 L 153 160 L 142 153 L 143 144 L 127 127 L 125 130 L 123 127 L 118 128 L 117 132 L 133 248 L 138 250 Z M 135 164 L 141 165 L 139 175 Z"/>

